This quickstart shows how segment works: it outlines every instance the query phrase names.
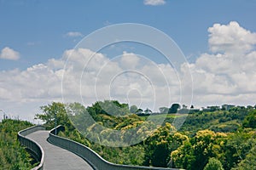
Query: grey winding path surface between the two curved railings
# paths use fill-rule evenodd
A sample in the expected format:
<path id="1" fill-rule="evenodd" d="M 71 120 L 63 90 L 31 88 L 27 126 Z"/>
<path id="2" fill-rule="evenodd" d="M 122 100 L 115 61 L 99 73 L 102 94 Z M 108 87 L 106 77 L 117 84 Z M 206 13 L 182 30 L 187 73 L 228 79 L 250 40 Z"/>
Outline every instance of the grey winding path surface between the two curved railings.
<path id="1" fill-rule="evenodd" d="M 58 146 L 49 144 L 46 140 L 49 136 L 49 131 L 37 131 L 35 133 L 28 134 L 26 137 L 33 139 L 38 142 L 44 150 L 44 169 L 46 170 L 78 170 L 78 169 L 88 169 L 92 170 L 86 161 L 81 157 L 73 154 L 68 150 L 61 149 Z"/>

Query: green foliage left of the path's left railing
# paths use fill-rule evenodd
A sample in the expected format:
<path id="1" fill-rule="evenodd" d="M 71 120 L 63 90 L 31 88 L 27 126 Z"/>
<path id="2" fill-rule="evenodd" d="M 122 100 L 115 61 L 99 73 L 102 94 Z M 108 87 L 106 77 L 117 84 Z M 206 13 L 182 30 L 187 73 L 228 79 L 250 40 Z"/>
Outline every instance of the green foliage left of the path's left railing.
<path id="1" fill-rule="evenodd" d="M 0 169 L 31 169 L 31 157 L 20 146 L 17 133 L 31 127 L 30 122 L 5 119 L 0 122 Z"/>

